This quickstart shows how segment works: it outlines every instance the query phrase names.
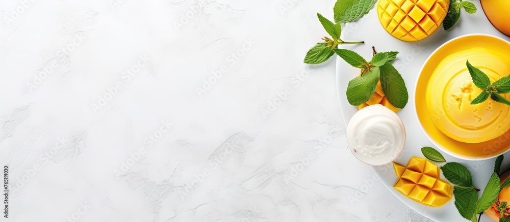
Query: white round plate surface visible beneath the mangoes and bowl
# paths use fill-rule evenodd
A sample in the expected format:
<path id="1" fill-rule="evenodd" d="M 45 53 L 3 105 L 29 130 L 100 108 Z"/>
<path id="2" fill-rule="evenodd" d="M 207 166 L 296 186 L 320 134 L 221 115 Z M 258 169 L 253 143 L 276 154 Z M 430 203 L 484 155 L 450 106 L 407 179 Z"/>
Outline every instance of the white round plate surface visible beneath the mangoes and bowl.
<path id="1" fill-rule="evenodd" d="M 433 143 L 426 137 L 425 133 L 420 127 L 420 122 L 416 117 L 414 110 L 414 88 L 418 74 L 428 56 L 436 50 L 443 43 L 451 40 L 455 37 L 466 35 L 466 34 L 489 34 L 507 41 L 510 38 L 501 34 L 496 28 L 494 28 L 480 6 L 480 2 L 473 1 L 478 11 L 474 14 L 468 14 L 464 10 L 461 10 L 461 18 L 457 24 L 449 31 L 443 30 L 441 26 L 436 33 L 430 37 L 418 41 L 418 42 L 403 42 L 393 38 L 390 34 L 382 28 L 377 18 L 377 10 L 374 7 L 369 14 L 363 18 L 350 22 L 344 25 L 342 30 L 343 41 L 365 41 L 365 44 L 359 45 L 341 45 L 340 48 L 350 49 L 358 52 L 360 55 L 369 60 L 372 57 L 372 46 L 375 47 L 377 52 L 383 51 L 398 51 L 397 59 L 392 62 L 393 66 L 402 75 L 407 91 L 409 92 L 409 102 L 404 109 L 400 110 L 397 114 L 402 119 L 407 134 L 407 140 L 405 143 L 404 150 L 395 162 L 406 165 L 407 161 L 412 156 L 423 157 L 420 149 L 424 146 L 434 147 L 438 149 Z M 509 52 L 510 53 L 510 52 Z M 353 68 L 348 65 L 344 60 L 337 56 L 337 93 L 340 100 L 340 110 L 342 118 L 347 125 L 350 118 L 356 111 L 357 107 L 351 106 L 347 102 L 345 91 L 349 80 L 354 78 L 360 73 L 359 69 Z M 423 98 L 424 99 L 424 98 Z M 466 166 L 473 176 L 473 183 L 477 188 L 483 190 L 486 186 L 487 181 L 494 170 L 495 158 L 482 161 L 465 161 L 440 151 L 446 158 L 447 162 L 457 162 Z M 510 167 L 510 153 L 505 154 L 505 160 L 501 166 L 502 170 Z M 441 164 L 438 164 L 441 166 Z M 386 185 L 390 192 L 392 192 L 399 200 L 401 200 L 407 206 L 423 214 L 424 216 L 436 220 L 436 221 L 467 221 L 457 211 L 452 199 L 442 207 L 429 207 L 418 202 L 415 202 L 402 194 L 398 193 L 392 188 L 395 183 L 397 176 L 393 171 L 392 164 L 388 164 L 380 167 L 372 167 L 374 173 L 379 176 L 382 183 Z M 444 179 L 444 176 L 442 176 Z M 481 192 L 479 192 L 479 196 Z M 481 221 L 491 221 L 485 215 L 482 215 Z"/>

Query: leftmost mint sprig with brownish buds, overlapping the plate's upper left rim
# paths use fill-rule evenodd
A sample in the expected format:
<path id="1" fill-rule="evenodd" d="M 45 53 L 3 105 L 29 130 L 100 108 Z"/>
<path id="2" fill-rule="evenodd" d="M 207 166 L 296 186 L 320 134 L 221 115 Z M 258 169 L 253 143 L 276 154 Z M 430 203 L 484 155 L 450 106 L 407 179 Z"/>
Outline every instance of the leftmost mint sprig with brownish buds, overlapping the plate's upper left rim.
<path id="1" fill-rule="evenodd" d="M 307 55 L 304 56 L 304 63 L 321 64 L 334 54 L 333 49 L 336 49 L 338 45 L 364 43 L 363 41 L 346 42 L 341 40 L 342 26 L 339 23 L 333 23 L 319 13 L 317 13 L 317 17 L 322 27 L 324 27 L 324 30 L 326 30 L 326 33 L 329 34 L 331 38 L 322 38 L 322 40 L 324 40 L 323 43 L 317 43 L 317 45 L 308 50 Z"/>

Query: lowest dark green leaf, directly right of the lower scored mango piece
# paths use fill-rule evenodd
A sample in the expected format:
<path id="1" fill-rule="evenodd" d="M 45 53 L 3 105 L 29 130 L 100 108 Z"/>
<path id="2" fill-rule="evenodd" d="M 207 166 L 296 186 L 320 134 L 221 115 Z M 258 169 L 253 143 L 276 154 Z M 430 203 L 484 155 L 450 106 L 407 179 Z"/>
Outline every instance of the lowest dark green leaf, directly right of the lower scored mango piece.
<path id="1" fill-rule="evenodd" d="M 476 189 L 472 187 L 453 186 L 455 207 L 462 217 L 471 220 L 475 215 L 475 203 L 478 200 Z"/>

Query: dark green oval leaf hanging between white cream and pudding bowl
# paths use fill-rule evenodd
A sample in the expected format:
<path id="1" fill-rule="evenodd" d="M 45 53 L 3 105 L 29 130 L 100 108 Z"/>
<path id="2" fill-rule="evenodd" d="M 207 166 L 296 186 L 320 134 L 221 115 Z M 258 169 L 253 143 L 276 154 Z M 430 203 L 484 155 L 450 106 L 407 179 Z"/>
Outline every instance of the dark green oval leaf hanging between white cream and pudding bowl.
<path id="1" fill-rule="evenodd" d="M 407 94 L 407 88 L 405 88 L 405 82 L 398 71 L 393 67 L 390 62 L 386 62 L 380 68 L 380 81 L 382 91 L 388 97 L 391 105 L 397 108 L 404 108 L 409 99 Z"/>

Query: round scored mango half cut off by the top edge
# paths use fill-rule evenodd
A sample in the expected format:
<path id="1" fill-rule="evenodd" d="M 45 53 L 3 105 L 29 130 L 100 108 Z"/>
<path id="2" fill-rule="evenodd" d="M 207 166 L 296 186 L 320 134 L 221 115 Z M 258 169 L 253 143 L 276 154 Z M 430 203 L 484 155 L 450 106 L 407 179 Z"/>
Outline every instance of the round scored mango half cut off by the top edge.
<path id="1" fill-rule="evenodd" d="M 443 23 L 449 0 L 380 0 L 377 14 L 393 37 L 414 42 L 432 35 Z"/>

